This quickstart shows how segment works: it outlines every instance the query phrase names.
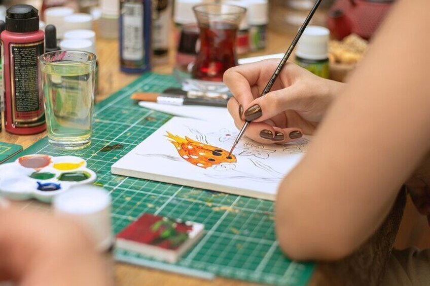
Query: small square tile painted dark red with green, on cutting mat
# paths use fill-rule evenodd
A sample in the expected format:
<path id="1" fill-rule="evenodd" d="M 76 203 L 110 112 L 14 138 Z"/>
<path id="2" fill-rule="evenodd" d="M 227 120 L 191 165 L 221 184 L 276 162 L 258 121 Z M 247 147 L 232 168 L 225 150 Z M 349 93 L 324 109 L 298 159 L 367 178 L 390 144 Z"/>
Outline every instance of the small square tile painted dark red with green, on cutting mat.
<path id="1" fill-rule="evenodd" d="M 116 247 L 175 263 L 203 234 L 204 226 L 144 214 L 117 235 Z"/>

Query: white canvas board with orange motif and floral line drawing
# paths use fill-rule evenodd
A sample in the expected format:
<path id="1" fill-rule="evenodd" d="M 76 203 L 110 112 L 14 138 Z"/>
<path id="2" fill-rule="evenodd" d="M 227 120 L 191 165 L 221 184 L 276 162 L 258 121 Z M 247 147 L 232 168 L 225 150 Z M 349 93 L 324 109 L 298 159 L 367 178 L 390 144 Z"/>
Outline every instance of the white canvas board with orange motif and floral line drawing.
<path id="1" fill-rule="evenodd" d="M 233 154 L 233 122 L 173 117 L 112 166 L 112 173 L 273 200 L 309 138 L 264 145 L 246 137 Z"/>

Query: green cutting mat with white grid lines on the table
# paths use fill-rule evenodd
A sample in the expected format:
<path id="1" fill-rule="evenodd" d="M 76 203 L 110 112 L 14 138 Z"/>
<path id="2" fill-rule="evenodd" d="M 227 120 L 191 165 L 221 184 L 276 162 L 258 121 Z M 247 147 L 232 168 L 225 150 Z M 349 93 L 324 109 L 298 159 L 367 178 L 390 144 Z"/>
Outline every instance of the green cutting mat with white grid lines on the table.
<path id="1" fill-rule="evenodd" d="M 176 265 L 117 250 L 115 255 L 120 261 L 208 278 L 215 274 L 268 284 L 305 285 L 314 265 L 292 262 L 280 252 L 274 234 L 273 202 L 111 174 L 114 162 L 171 118 L 137 106 L 130 95 L 137 91 L 161 92 L 171 86 L 177 86 L 173 76 L 148 73 L 97 104 L 89 148 L 58 151 L 45 138 L 23 153 L 85 158 L 97 173 L 96 184 L 112 194 L 116 233 L 142 213 L 205 225 L 203 238 Z M 114 144 L 124 147 L 101 150 Z"/>

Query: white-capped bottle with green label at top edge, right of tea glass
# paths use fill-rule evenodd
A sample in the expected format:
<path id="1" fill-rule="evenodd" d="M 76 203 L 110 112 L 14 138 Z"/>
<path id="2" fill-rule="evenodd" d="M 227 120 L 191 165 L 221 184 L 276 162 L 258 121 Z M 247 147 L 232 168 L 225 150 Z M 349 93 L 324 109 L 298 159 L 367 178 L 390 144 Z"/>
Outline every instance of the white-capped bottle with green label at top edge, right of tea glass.
<path id="1" fill-rule="evenodd" d="M 266 48 L 269 11 L 267 0 L 248 0 L 246 18 L 249 26 L 249 48 L 252 52 Z"/>

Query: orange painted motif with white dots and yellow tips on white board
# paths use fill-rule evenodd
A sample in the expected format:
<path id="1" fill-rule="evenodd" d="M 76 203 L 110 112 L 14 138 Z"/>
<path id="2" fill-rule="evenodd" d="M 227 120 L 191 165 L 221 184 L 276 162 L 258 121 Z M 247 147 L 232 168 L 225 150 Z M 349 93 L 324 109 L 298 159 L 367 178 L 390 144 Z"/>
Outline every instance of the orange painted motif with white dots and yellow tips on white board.
<path id="1" fill-rule="evenodd" d="M 181 157 L 191 164 L 200 168 L 209 168 L 213 165 L 221 163 L 235 163 L 236 157 L 231 154 L 228 156 L 228 151 L 219 147 L 203 144 L 193 139 L 182 138 L 167 132 L 167 138 L 176 147 L 177 152 Z"/>

